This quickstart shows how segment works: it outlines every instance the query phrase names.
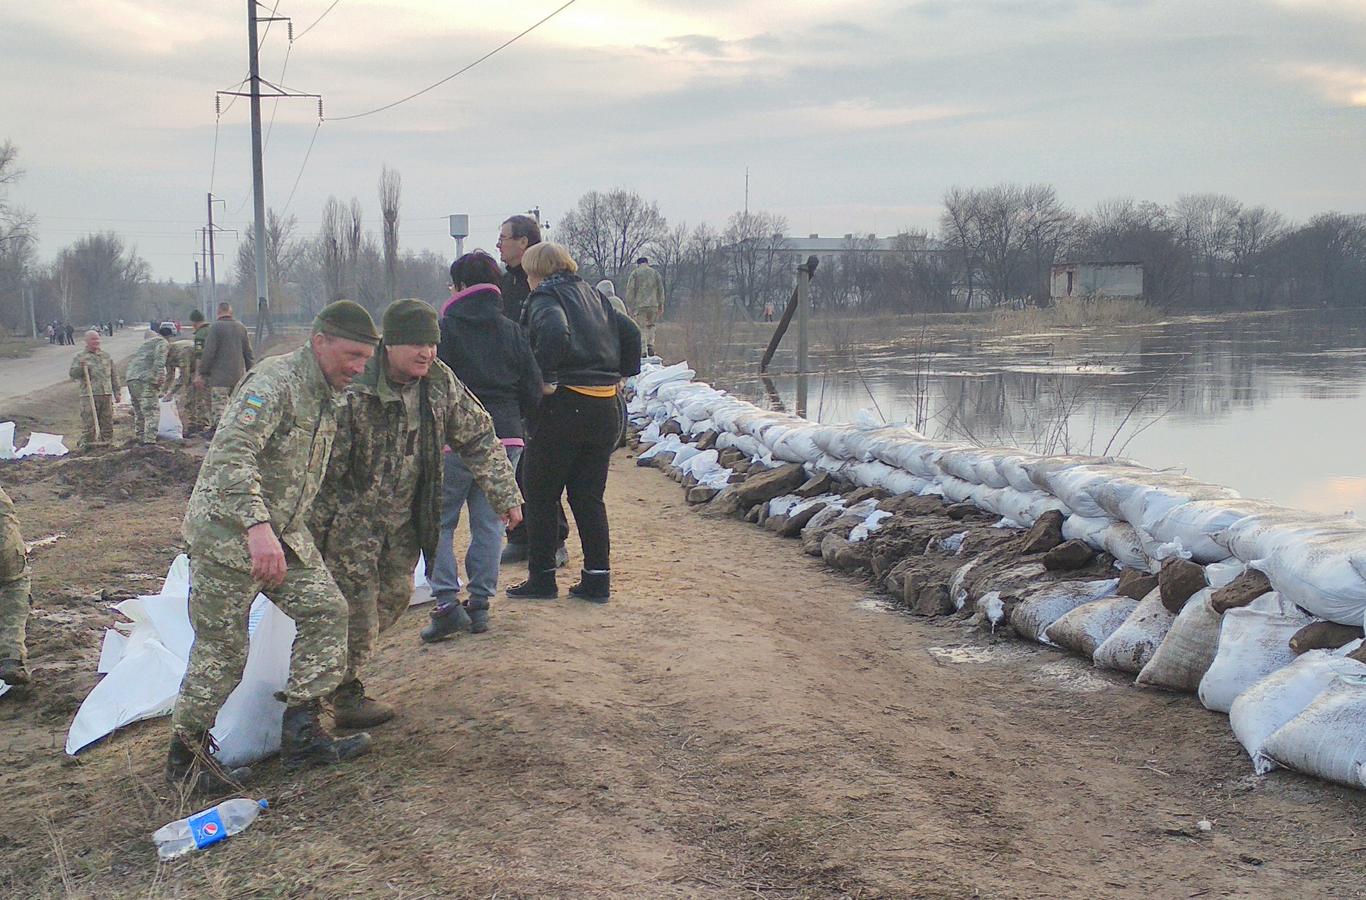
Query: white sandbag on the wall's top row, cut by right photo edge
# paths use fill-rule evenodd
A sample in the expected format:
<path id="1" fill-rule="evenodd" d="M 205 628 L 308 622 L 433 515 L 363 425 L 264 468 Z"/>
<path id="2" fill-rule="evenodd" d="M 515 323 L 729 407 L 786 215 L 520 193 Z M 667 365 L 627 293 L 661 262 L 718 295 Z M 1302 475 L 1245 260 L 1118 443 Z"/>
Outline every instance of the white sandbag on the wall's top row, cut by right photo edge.
<path id="1" fill-rule="evenodd" d="M 1366 530 L 1303 535 L 1251 564 L 1315 616 L 1344 625 L 1366 619 Z"/>

